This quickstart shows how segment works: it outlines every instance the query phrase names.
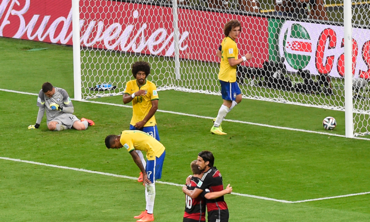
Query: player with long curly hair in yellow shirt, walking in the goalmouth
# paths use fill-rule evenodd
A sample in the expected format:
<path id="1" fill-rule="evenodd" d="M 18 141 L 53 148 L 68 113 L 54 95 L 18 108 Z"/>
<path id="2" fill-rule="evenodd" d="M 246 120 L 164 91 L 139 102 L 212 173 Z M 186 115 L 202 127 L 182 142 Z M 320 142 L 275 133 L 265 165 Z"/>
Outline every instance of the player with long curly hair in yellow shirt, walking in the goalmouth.
<path id="1" fill-rule="evenodd" d="M 242 94 L 236 82 L 236 66 L 251 59 L 252 55 L 247 53 L 242 56 L 242 58 L 238 59 L 239 49 L 235 40 L 241 31 L 242 26 L 238 20 L 227 22 L 223 28 L 225 37 L 221 43 L 221 64 L 219 73 L 223 103 L 214 125 L 211 128 L 211 133 L 213 134 L 226 135 L 220 127 L 222 120 L 229 111 L 242 101 Z M 220 52 L 218 51 L 216 55 L 219 54 Z"/>

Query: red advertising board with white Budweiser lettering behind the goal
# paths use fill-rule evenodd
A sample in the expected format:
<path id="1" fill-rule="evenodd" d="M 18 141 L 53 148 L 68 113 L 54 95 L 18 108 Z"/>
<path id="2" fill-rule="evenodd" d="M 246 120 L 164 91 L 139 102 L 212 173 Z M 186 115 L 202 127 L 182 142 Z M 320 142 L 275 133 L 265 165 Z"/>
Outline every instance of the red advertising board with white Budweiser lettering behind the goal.
<path id="1" fill-rule="evenodd" d="M 72 44 L 71 0 L 2 0 L 0 36 Z M 95 5 L 94 8 L 84 5 Z M 81 45 L 160 56 L 174 55 L 171 7 L 80 0 Z M 217 62 L 223 25 L 238 19 L 243 33 L 240 54 L 250 52 L 247 64 L 261 67 L 268 57 L 268 20 L 199 10 L 179 9 L 180 57 Z"/>

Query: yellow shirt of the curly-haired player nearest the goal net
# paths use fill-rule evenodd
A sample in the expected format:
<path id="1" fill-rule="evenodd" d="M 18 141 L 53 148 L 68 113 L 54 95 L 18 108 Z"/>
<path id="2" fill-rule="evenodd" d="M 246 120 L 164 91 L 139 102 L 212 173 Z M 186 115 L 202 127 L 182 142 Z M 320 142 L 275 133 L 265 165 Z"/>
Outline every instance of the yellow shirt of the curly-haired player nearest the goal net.
<path id="1" fill-rule="evenodd" d="M 221 43 L 221 65 L 219 79 L 224 82 L 235 82 L 236 81 L 236 66 L 230 66 L 228 59 L 238 59 L 239 50 L 236 42 L 230 38 L 225 37 Z"/>

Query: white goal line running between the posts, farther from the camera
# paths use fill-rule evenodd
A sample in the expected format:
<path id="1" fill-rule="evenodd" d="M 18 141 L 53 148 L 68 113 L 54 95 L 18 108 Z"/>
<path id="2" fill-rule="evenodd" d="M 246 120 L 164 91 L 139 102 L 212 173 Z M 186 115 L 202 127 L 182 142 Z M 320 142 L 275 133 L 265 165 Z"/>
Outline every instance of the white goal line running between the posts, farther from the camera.
<path id="1" fill-rule="evenodd" d="M 8 89 L 0 89 L 0 91 L 20 93 L 20 94 L 26 94 L 26 95 L 35 95 L 35 96 L 38 95 L 36 93 L 20 92 L 20 91 L 8 90 Z M 74 100 L 74 99 L 71 99 L 71 100 Z M 89 101 L 89 100 L 82 100 L 82 102 L 109 105 L 109 106 L 116 106 L 116 107 L 132 108 L 132 106 L 126 106 L 126 105 L 114 104 L 114 103 L 104 103 L 104 102 Z M 183 113 L 183 112 L 174 112 L 174 111 L 165 111 L 165 110 L 157 110 L 157 112 L 165 112 L 165 113 L 171 113 L 171 114 L 177 114 L 177 115 L 185 115 L 185 116 L 191 116 L 191 117 L 203 118 L 203 119 L 214 119 L 214 117 L 210 117 L 210 116 L 194 115 L 194 114 L 188 114 L 188 113 Z M 290 131 L 303 132 L 303 133 L 315 133 L 315 134 L 320 134 L 320 135 L 327 135 L 327 136 L 345 138 L 345 135 L 326 133 L 326 132 L 318 132 L 318 131 L 312 131 L 312 130 L 303 130 L 303 129 L 296 129 L 296 128 L 290 128 L 290 127 L 273 126 L 273 125 L 254 123 L 254 122 L 246 122 L 246 121 L 233 120 L 233 119 L 224 119 L 223 121 L 243 123 L 243 124 L 248 124 L 248 125 L 269 127 L 269 128 L 282 129 L 282 130 L 290 130 Z M 370 141 L 370 138 L 364 138 L 364 137 L 354 137 L 352 139 Z"/>

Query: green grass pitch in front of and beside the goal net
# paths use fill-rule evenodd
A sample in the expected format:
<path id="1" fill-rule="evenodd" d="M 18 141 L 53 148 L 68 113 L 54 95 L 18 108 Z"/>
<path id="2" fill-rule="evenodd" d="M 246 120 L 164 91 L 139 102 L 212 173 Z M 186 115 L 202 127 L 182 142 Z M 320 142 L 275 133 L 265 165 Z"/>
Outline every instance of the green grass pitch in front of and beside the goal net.
<path id="1" fill-rule="evenodd" d="M 27 51 L 34 48 L 48 48 Z M 0 38 L 0 89 L 36 94 L 50 81 L 73 90 L 72 47 Z M 287 201 L 370 191 L 370 141 L 223 122 L 228 133 L 211 135 L 220 96 L 160 91 L 156 112 L 167 149 L 161 181 L 184 184 L 189 164 L 211 150 L 224 185 L 233 192 Z M 122 97 L 92 101 L 122 105 Z M 132 110 L 74 101 L 77 117 L 96 125 L 86 131 L 50 132 L 37 116 L 37 96 L 0 91 L 0 157 L 137 177 L 126 150 L 108 150 L 104 138 L 128 129 Z M 324 131 L 322 119 L 334 116 L 333 134 L 344 135 L 344 112 L 243 100 L 228 119 Z M 1 222 L 135 222 L 145 208 L 144 187 L 135 180 L 16 162 L 0 158 Z M 185 195 L 180 186 L 157 184 L 156 222 L 181 222 Z M 301 203 L 282 203 L 227 195 L 230 222 L 368 222 L 370 194 Z"/>

